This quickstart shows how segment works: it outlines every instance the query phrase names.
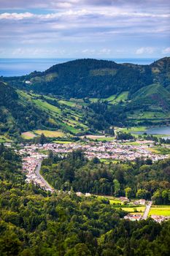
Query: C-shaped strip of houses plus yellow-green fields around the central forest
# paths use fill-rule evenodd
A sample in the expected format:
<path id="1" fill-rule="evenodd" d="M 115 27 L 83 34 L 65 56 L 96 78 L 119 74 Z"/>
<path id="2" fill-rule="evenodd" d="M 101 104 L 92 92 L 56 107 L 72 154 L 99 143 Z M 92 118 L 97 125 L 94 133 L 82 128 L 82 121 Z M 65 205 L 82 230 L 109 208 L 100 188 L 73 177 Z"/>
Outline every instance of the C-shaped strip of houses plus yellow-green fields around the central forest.
<path id="1" fill-rule="evenodd" d="M 125 143 L 125 144 L 124 144 Z M 62 193 L 69 193 L 71 195 L 73 191 L 69 191 L 66 189 L 59 189 L 55 190 L 53 186 L 51 187 L 47 181 L 39 174 L 39 170 L 41 170 L 42 165 L 42 159 L 47 159 L 48 154 L 58 154 L 58 157 L 61 156 L 61 159 L 63 157 L 66 157 L 67 154 L 72 153 L 73 151 L 81 150 L 84 152 L 85 157 L 88 157 L 89 160 L 98 159 L 96 160 L 96 163 L 99 164 L 99 159 L 105 159 L 106 161 L 111 162 L 105 162 L 105 164 L 108 163 L 122 163 L 124 162 L 124 165 L 127 165 L 127 162 L 136 161 L 136 159 L 143 159 L 150 163 L 149 159 L 152 159 L 152 162 L 161 160 L 161 159 L 168 159 L 169 155 L 161 155 L 161 154 L 153 154 L 151 153 L 148 148 L 152 149 L 154 148 L 154 143 L 152 141 L 144 141 L 139 140 L 136 141 L 136 144 L 133 145 L 131 142 L 124 142 L 119 143 L 117 141 L 112 141 L 112 143 L 102 143 L 102 142 L 87 142 L 86 143 L 72 143 L 72 144 L 58 144 L 58 143 L 48 143 L 41 145 L 31 145 L 31 146 L 20 146 L 19 154 L 23 157 L 23 173 L 26 173 L 26 182 L 31 183 L 33 182 L 36 186 L 40 186 L 42 189 L 45 189 L 49 192 L 57 192 L 62 195 Z M 139 148 L 138 146 L 139 145 Z M 121 148 L 121 149 L 120 149 Z M 108 153 L 109 155 L 108 155 Z M 137 152 L 138 151 L 138 152 Z M 44 153 L 42 153 L 44 152 Z M 50 153 L 49 153 L 50 152 Z M 170 153 L 170 148 L 169 148 Z M 109 157 L 109 159 L 108 159 Z M 114 160 L 114 161 L 112 161 Z M 116 161 L 115 161 L 116 160 Z M 41 172 L 42 173 L 42 172 Z M 92 197 L 95 196 L 98 198 L 98 200 L 108 200 L 109 203 L 114 206 L 114 208 L 121 208 L 123 211 L 127 213 L 125 215 L 125 219 L 130 220 L 140 220 L 140 219 L 147 219 L 147 217 L 152 217 L 156 222 L 163 222 L 170 218 L 170 207 L 169 206 L 156 206 L 153 205 L 151 208 L 147 207 L 150 202 L 148 202 L 146 197 L 145 199 L 136 200 L 131 198 L 131 200 L 128 199 L 128 197 L 114 197 L 113 195 L 95 195 L 91 194 L 91 191 L 89 192 L 88 189 L 86 190 L 86 193 L 83 195 L 80 190 L 75 191 L 77 193 L 77 196 L 79 197 Z M 106 191 L 104 192 L 104 194 Z M 112 193 L 112 189 L 111 189 Z M 146 213 L 144 214 L 146 208 Z"/>

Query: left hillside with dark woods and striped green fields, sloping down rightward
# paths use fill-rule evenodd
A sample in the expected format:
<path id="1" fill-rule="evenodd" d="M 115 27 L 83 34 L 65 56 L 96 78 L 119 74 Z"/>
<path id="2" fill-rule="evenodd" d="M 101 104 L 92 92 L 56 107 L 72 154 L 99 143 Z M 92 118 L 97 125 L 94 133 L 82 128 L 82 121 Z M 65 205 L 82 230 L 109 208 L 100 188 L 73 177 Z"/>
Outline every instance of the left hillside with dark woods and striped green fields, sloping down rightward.
<path id="1" fill-rule="evenodd" d="M 42 96 L 15 90 L 4 82 L 0 83 L 0 91 L 0 141 L 4 135 L 14 138 L 23 134 L 23 138 L 34 138 L 42 132 L 51 138 L 85 135 L 123 124 L 122 108 L 114 118 L 112 113 L 117 108 L 109 108 L 103 102 Z"/>

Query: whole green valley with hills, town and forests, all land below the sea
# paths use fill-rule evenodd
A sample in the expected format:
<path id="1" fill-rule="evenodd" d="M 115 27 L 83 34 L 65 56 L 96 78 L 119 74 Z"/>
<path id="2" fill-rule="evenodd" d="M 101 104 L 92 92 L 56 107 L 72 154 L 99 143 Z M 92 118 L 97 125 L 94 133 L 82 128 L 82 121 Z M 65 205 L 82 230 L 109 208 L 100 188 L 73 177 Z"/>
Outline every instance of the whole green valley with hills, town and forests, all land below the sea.
<path id="1" fill-rule="evenodd" d="M 145 66 L 84 59 L 1 77 L 1 240 L 12 233 L 26 255 L 47 255 L 56 237 L 59 255 L 74 255 L 74 244 L 104 255 L 120 232 L 119 255 L 123 232 L 143 225 L 157 244 L 152 228 L 170 219 L 168 74 L 169 58 Z"/>

